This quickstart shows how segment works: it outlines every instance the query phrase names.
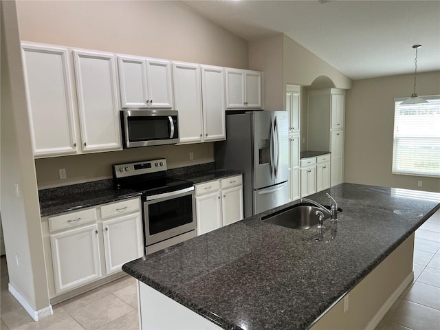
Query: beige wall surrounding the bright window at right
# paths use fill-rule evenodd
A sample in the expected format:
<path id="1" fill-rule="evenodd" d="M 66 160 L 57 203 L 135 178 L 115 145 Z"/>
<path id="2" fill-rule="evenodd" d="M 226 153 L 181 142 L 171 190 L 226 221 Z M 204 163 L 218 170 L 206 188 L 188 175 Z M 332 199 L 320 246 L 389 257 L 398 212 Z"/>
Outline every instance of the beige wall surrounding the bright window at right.
<path id="1" fill-rule="evenodd" d="M 440 192 L 440 178 L 391 174 L 394 98 L 410 96 L 413 86 L 412 74 L 353 81 L 346 100 L 344 181 Z M 417 74 L 417 94 L 440 94 L 440 72 Z"/>

